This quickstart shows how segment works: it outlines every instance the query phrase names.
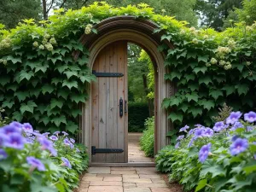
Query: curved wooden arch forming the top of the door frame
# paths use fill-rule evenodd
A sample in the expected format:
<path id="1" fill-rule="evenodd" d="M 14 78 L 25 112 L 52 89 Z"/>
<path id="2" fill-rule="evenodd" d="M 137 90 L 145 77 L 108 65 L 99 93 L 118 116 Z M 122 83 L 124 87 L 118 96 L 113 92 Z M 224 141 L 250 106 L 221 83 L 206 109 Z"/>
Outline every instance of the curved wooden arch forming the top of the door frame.
<path id="1" fill-rule="evenodd" d="M 115 41 L 125 40 L 141 46 L 151 57 L 155 67 L 158 70 L 164 70 L 164 53 L 160 53 L 158 46 L 162 44 L 161 33 L 154 33 L 158 28 L 157 24 L 151 20 L 141 20 L 134 16 L 114 16 L 102 20 L 96 26 L 93 26 L 97 34 L 82 35 L 79 39 L 90 51 L 89 67 L 92 68 L 96 55 L 108 44 Z M 170 48 L 173 45 L 164 41 Z"/>

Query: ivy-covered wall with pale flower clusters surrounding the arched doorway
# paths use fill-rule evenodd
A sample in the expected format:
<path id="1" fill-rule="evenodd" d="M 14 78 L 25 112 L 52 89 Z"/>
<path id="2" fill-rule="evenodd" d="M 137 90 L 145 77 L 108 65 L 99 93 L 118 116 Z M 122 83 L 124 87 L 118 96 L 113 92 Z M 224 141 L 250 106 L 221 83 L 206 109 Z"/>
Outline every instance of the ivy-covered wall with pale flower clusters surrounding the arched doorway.
<path id="1" fill-rule="evenodd" d="M 90 53 L 79 44 L 83 33 L 116 15 L 153 20 L 155 32 L 171 41 L 166 51 L 166 80 L 177 83 L 178 92 L 163 107 L 176 124 L 204 121 L 224 102 L 235 109 L 255 109 L 256 24 L 241 22 L 225 32 L 186 27 L 166 15 L 156 15 L 148 5 L 113 8 L 94 3 L 79 10 L 55 11 L 49 20 L 23 20 L 11 31 L 0 25 L 0 105 L 9 117 L 29 121 L 44 131 L 78 131 L 79 104 L 88 97 L 86 84 L 94 80 L 86 63 Z M 73 60 L 73 51 L 81 51 Z"/>

